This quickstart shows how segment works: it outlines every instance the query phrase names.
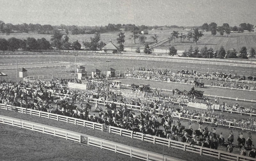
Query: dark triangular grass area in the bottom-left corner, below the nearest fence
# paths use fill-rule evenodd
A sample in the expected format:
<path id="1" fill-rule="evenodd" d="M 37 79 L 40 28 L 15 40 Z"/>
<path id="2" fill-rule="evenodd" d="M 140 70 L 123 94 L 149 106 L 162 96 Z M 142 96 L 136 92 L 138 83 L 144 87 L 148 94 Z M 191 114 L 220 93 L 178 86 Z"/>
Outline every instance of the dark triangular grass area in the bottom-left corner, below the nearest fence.
<path id="1" fill-rule="evenodd" d="M 81 146 L 74 141 L 10 125 L 0 124 L 0 129 L 0 160 L 2 161 L 140 160 L 94 146 Z"/>

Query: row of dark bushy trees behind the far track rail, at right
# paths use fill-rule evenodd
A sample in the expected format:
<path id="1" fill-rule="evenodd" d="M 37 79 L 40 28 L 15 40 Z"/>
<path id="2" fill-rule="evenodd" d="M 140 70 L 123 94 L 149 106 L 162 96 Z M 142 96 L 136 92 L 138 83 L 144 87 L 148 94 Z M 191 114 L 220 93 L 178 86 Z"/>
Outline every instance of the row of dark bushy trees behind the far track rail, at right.
<path id="1" fill-rule="evenodd" d="M 175 48 L 171 47 L 170 48 L 170 55 L 174 56 L 177 54 L 177 50 L 175 52 Z M 246 47 L 242 47 L 239 51 L 239 53 L 237 53 L 236 51 L 230 51 L 228 50 L 226 52 L 226 50 L 224 49 L 223 46 L 220 47 L 219 50 L 214 51 L 213 48 L 201 48 L 199 50 L 198 47 L 195 47 L 193 49 L 192 46 L 190 46 L 190 48 L 186 51 L 184 51 L 182 53 L 182 57 L 194 57 L 194 58 L 242 58 L 242 59 L 248 59 L 248 58 L 253 58 L 256 56 L 255 53 L 255 49 L 251 48 L 250 52 L 247 53 L 247 48 Z"/>

